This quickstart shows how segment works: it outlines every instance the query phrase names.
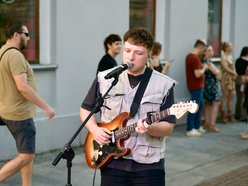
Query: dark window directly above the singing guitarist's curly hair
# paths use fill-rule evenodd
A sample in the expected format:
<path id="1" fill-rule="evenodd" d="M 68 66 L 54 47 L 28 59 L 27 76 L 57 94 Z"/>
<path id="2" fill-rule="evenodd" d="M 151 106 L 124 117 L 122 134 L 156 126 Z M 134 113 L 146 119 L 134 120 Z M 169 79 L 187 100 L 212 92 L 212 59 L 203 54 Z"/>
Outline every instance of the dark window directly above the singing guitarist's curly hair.
<path id="1" fill-rule="evenodd" d="M 155 35 L 156 0 L 130 0 L 130 28 L 142 26 Z"/>

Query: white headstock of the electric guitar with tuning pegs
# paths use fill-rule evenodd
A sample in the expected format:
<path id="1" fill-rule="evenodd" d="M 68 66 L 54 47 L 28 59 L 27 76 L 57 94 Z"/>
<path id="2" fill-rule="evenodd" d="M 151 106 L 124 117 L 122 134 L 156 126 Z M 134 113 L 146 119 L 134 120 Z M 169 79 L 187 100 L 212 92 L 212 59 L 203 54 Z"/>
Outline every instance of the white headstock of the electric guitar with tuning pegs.
<path id="1" fill-rule="evenodd" d="M 198 104 L 193 101 L 179 102 L 169 108 L 170 115 L 175 115 L 177 119 L 180 119 L 186 112 L 196 113 L 197 111 Z"/>

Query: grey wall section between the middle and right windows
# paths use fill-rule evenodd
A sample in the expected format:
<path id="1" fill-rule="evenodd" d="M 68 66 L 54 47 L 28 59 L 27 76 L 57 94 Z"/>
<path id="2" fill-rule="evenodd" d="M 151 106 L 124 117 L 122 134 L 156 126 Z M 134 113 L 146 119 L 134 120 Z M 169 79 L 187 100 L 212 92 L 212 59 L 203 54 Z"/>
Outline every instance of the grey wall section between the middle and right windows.
<path id="1" fill-rule="evenodd" d="M 193 11 L 192 11 L 193 10 Z M 207 0 L 158 0 L 156 40 L 163 45 L 162 59 L 174 59 L 168 75 L 177 80 L 175 100 L 188 101 L 185 57 L 197 38 L 207 38 Z M 177 121 L 185 123 L 186 117 Z"/>

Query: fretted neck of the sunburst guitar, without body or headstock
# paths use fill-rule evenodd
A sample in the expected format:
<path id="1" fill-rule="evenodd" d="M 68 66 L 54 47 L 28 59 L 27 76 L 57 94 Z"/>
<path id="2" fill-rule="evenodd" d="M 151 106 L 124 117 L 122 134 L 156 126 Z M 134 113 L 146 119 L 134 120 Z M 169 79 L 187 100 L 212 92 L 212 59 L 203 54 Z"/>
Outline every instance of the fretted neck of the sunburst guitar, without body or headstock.
<path id="1" fill-rule="evenodd" d="M 169 113 L 169 109 L 166 109 L 164 111 L 161 111 L 161 112 L 157 112 L 157 113 L 150 113 L 148 114 L 149 118 L 146 118 L 144 120 L 148 120 L 150 122 L 147 122 L 149 125 L 151 125 L 152 123 L 155 123 L 163 118 L 166 118 L 170 115 Z M 135 133 L 136 130 L 135 128 L 137 127 L 137 123 L 134 123 L 134 124 L 131 124 L 131 125 L 128 125 L 124 128 L 121 128 L 121 129 L 118 129 L 116 131 L 114 131 L 114 134 L 115 134 L 115 139 L 118 140 L 118 139 L 122 139 L 122 138 L 127 138 L 128 136 L 130 136 L 132 133 Z"/>

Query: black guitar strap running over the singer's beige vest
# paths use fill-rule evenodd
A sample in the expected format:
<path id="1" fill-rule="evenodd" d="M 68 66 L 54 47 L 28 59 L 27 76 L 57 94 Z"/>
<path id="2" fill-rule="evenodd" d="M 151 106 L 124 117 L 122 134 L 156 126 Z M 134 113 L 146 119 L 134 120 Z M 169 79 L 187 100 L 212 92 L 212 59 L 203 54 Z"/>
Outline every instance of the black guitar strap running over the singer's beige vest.
<path id="1" fill-rule="evenodd" d="M 137 113 L 139 106 L 140 106 L 140 101 L 144 95 L 146 86 L 150 80 L 150 77 L 152 75 L 152 69 L 151 68 L 146 68 L 145 73 L 143 78 L 141 79 L 140 85 L 138 87 L 138 90 L 134 96 L 133 103 L 130 108 L 130 116 L 134 117 L 135 114 Z"/>

